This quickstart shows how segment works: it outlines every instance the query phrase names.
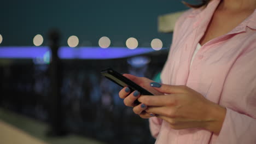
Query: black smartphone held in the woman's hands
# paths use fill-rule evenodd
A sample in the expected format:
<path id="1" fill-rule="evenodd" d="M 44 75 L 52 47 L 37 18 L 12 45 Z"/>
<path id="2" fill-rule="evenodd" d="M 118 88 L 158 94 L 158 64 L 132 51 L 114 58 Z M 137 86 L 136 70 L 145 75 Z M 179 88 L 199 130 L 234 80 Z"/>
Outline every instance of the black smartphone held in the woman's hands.
<path id="1" fill-rule="evenodd" d="M 129 87 L 131 89 L 131 92 L 137 90 L 143 95 L 154 95 L 111 68 L 102 70 L 101 74 L 107 77 L 107 79 L 113 81 L 114 83 L 117 83 L 121 87 Z M 139 102 L 135 101 L 135 104 L 139 104 Z"/>

